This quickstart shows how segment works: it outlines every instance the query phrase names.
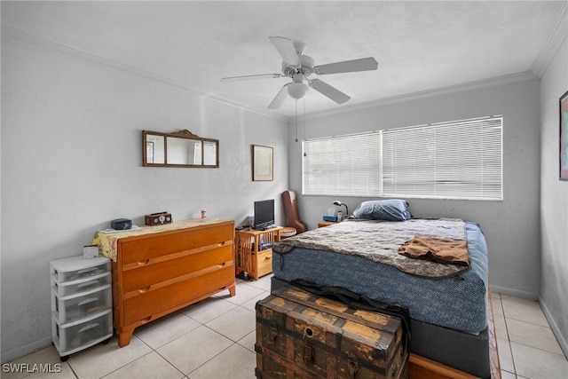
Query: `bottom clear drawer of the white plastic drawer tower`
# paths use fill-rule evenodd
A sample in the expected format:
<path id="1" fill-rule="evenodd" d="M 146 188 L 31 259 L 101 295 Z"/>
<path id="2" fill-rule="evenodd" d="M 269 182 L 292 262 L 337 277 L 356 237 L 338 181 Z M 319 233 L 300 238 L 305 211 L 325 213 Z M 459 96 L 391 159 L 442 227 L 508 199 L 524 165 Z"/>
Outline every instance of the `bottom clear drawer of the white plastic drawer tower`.
<path id="1" fill-rule="evenodd" d="M 59 325 L 52 317 L 51 324 L 53 343 L 59 354 L 72 354 L 113 336 L 113 313 L 110 309 L 65 325 Z"/>

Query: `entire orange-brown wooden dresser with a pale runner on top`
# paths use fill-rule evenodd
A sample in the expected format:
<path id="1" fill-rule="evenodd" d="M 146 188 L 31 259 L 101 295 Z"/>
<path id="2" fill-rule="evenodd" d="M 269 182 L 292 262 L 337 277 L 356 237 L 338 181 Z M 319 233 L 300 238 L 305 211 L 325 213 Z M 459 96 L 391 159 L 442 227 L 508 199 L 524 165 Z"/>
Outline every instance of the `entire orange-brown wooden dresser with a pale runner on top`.
<path id="1" fill-rule="evenodd" d="M 112 259 L 114 328 L 119 346 L 134 328 L 225 289 L 235 295 L 234 221 L 207 218 L 96 233 Z"/>

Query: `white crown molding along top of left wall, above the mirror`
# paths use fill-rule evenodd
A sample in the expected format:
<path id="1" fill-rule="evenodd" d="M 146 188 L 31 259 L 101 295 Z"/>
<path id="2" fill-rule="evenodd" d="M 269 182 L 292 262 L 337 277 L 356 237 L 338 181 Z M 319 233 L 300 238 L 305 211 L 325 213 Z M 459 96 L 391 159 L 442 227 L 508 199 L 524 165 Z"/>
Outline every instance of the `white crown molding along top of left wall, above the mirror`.
<path id="1" fill-rule="evenodd" d="M 132 67 L 129 65 L 122 64 L 112 59 L 106 59 L 98 55 L 91 54 L 90 52 L 87 51 L 75 49 L 74 47 L 67 46 L 66 44 L 63 43 L 56 43 L 39 36 L 28 35 L 26 33 L 22 33 L 12 28 L 2 27 L 0 28 L 0 31 L 2 34 L 2 43 L 15 43 L 20 46 L 24 46 L 28 49 L 42 51 L 43 53 L 46 54 L 59 56 L 65 59 L 75 60 L 83 64 L 88 64 L 105 69 L 111 69 L 113 71 L 121 72 L 122 74 L 138 76 L 154 83 L 160 83 L 183 91 L 191 92 L 194 95 L 205 97 L 207 99 L 216 101 L 217 103 L 224 104 L 226 106 L 236 107 L 254 114 L 260 114 L 265 117 L 270 117 L 272 119 L 281 122 L 288 122 L 288 117 L 282 114 L 262 112 L 255 108 L 242 106 L 241 104 L 233 102 L 230 99 L 225 99 L 217 95 L 213 95 L 209 91 L 197 88 L 190 83 L 185 83 L 171 79 L 166 76 L 154 74 L 152 72 L 137 67 Z"/>

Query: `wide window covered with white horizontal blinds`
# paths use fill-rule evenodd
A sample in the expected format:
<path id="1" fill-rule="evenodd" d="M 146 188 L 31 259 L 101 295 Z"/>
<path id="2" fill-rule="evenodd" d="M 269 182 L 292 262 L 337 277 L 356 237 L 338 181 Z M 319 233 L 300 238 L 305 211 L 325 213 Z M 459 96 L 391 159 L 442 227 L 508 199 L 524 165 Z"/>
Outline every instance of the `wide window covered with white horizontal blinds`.
<path id="1" fill-rule="evenodd" d="M 303 193 L 502 200 L 501 116 L 303 142 Z"/>

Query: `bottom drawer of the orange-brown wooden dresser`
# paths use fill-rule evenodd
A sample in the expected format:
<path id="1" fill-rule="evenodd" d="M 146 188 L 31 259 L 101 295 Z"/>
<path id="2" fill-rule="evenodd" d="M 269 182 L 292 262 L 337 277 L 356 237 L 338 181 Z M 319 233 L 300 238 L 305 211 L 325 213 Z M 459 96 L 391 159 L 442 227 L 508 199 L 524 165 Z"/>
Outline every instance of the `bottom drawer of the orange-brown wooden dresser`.
<path id="1" fill-rule="evenodd" d="M 213 272 L 189 280 L 175 282 L 146 292 L 131 292 L 124 296 L 124 324 L 154 320 L 154 314 L 166 312 L 181 304 L 191 304 L 198 298 L 217 293 L 234 283 L 234 265 L 225 265 Z"/>

